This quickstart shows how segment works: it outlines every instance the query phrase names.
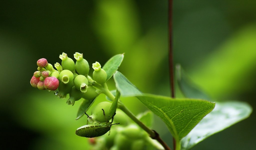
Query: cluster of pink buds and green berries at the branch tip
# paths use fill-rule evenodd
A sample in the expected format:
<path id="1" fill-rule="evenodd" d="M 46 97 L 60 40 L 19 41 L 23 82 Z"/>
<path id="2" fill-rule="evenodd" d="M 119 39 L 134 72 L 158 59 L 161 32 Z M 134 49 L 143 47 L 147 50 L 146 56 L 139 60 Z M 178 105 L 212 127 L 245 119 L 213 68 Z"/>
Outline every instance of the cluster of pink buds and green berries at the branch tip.
<path id="1" fill-rule="evenodd" d="M 81 98 L 94 99 L 98 93 L 88 80 L 104 84 L 107 78 L 107 74 L 101 68 L 100 63 L 93 63 L 94 71 L 93 78 L 91 78 L 88 76 L 89 64 L 83 58 L 82 53 L 76 52 L 74 54 L 76 63 L 64 52 L 59 58 L 62 60 L 61 65 L 58 62 L 54 64 L 57 70 L 45 58 L 39 59 L 37 61 L 38 71 L 34 73 L 30 80 L 31 86 L 39 90 L 55 91 L 58 89 L 58 91 L 55 91 L 55 95 L 62 99 L 65 99 L 69 94 L 67 100 L 69 105 L 74 105 L 75 101 Z"/>

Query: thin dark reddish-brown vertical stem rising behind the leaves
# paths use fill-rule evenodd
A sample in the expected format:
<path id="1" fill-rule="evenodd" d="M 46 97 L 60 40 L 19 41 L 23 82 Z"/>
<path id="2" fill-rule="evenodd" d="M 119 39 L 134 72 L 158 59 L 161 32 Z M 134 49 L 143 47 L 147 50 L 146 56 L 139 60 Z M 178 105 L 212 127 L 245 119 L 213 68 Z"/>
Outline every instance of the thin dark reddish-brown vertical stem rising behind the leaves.
<path id="1" fill-rule="evenodd" d="M 170 90 L 171 97 L 174 98 L 174 72 L 173 72 L 173 22 L 172 22 L 172 13 L 173 13 L 173 0 L 168 1 L 168 29 L 169 29 L 169 73 L 170 73 Z M 173 147 L 176 150 L 176 141 L 173 137 Z"/>

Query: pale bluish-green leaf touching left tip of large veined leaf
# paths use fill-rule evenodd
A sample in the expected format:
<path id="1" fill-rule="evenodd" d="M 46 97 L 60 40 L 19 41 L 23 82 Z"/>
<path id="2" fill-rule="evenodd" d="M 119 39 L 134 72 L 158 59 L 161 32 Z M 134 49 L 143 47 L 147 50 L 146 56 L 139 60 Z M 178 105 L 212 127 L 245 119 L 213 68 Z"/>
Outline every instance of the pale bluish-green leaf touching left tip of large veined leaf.
<path id="1" fill-rule="evenodd" d="M 132 97 L 142 95 L 138 90 L 122 73 L 116 71 L 114 74 L 114 80 L 116 89 L 121 93 L 123 97 Z"/>

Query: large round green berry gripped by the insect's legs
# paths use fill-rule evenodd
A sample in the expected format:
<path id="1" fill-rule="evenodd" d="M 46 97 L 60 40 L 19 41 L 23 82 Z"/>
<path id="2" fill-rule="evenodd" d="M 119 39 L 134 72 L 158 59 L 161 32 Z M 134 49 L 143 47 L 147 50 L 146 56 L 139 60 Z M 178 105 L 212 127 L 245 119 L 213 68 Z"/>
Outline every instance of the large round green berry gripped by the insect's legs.
<path id="1" fill-rule="evenodd" d="M 106 122 L 106 120 L 109 121 L 112 118 L 112 116 L 108 115 L 111 105 L 112 105 L 112 103 L 110 103 L 110 102 L 101 102 L 101 103 L 97 104 L 92 109 L 92 112 L 91 112 L 92 115 L 90 117 L 92 117 L 92 119 L 94 119 L 98 122 Z M 102 109 L 105 112 L 106 118 L 104 117 Z M 92 122 L 92 120 L 90 118 L 88 118 L 88 121 Z"/>

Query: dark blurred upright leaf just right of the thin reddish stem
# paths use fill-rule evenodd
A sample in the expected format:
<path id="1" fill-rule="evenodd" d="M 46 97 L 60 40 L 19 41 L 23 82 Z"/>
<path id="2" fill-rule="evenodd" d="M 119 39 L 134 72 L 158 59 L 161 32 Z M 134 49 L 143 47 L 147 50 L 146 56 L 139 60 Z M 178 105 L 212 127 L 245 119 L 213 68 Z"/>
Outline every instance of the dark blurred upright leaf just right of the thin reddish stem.
<path id="1" fill-rule="evenodd" d="M 197 87 L 185 74 L 183 68 L 178 64 L 176 65 L 176 77 L 180 91 L 187 98 L 196 98 L 203 100 L 211 100 L 211 98 Z"/>

